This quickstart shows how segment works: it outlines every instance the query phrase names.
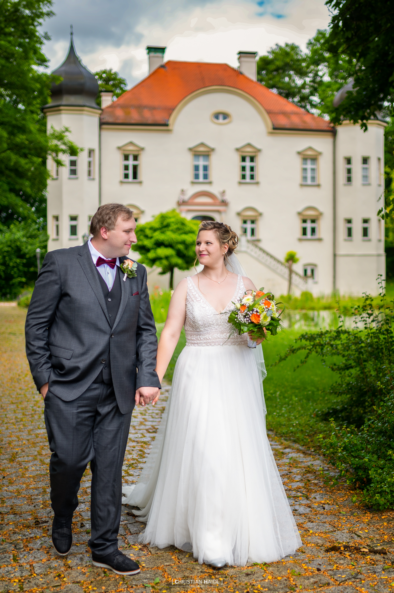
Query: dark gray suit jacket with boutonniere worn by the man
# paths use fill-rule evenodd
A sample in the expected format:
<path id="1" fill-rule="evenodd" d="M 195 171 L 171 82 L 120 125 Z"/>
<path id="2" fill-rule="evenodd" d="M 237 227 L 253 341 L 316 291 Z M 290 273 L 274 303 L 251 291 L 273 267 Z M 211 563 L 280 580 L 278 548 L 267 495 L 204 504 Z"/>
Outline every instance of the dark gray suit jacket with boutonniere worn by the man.
<path id="1" fill-rule="evenodd" d="M 146 269 L 138 265 L 136 272 L 126 282 L 122 276 L 111 328 L 88 244 L 46 254 L 25 324 L 27 359 L 38 390 L 49 382 L 49 391 L 62 400 L 76 399 L 97 377 L 108 352 L 121 413 L 133 410 L 136 388 L 160 387 Z"/>

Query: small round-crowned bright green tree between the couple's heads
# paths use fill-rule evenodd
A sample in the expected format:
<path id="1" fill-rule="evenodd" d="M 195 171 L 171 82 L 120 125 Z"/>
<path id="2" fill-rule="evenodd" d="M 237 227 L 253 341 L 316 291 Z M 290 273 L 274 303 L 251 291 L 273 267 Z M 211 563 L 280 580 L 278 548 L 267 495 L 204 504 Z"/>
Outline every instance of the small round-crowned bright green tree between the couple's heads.
<path id="1" fill-rule="evenodd" d="M 163 212 L 153 221 L 139 224 L 138 243 L 132 246 L 140 254 L 139 263 L 169 272 L 169 288 L 174 288 L 174 268 L 188 270 L 196 260 L 198 221 L 183 218 L 176 210 Z"/>

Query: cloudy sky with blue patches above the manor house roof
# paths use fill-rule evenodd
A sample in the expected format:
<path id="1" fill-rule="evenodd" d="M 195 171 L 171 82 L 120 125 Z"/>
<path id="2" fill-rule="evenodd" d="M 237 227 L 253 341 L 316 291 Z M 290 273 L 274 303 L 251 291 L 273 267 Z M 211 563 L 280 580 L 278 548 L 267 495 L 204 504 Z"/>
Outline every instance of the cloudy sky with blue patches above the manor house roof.
<path id="1" fill-rule="evenodd" d="M 70 24 L 82 62 L 113 68 L 132 87 L 148 74 L 147 45 L 166 46 L 165 60 L 226 62 L 239 50 L 260 55 L 276 43 L 305 47 L 329 22 L 324 0 L 55 0 L 43 29 L 50 69 L 62 63 Z"/>

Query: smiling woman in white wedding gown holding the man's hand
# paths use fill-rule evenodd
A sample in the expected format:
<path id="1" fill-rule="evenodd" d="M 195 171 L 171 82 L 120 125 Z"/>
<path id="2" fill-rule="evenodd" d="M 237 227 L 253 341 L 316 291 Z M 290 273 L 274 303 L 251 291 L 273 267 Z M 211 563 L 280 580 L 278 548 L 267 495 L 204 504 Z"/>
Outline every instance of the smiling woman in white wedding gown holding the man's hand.
<path id="1" fill-rule="evenodd" d="M 140 542 L 193 551 L 216 568 L 273 562 L 302 545 L 265 431 L 261 346 L 249 348 L 246 334 L 230 336 L 227 323 L 232 301 L 255 290 L 231 271 L 232 260 L 241 268 L 237 244 L 228 225 L 201 222 L 196 254 L 204 268 L 172 295 L 158 346 L 160 381 L 182 326 L 187 343 L 152 451 L 122 500 L 146 522 Z"/>

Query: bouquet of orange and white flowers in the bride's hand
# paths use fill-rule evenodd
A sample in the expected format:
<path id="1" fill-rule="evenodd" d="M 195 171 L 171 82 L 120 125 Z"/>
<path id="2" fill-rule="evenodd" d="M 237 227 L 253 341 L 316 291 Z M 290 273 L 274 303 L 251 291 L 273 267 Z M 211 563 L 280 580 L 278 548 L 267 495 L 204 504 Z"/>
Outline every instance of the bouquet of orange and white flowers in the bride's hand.
<path id="1" fill-rule="evenodd" d="M 277 304 L 272 292 L 252 291 L 251 294 L 245 292 L 243 297 L 237 298 L 233 302 L 234 308 L 230 312 L 228 323 L 230 323 L 238 334 L 249 333 L 255 338 L 265 337 L 264 328 L 276 336 L 278 329 L 281 329 L 282 323 Z"/>

